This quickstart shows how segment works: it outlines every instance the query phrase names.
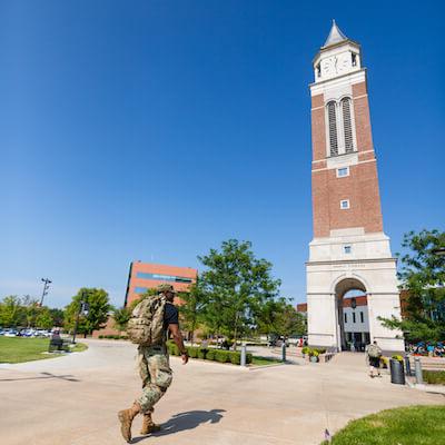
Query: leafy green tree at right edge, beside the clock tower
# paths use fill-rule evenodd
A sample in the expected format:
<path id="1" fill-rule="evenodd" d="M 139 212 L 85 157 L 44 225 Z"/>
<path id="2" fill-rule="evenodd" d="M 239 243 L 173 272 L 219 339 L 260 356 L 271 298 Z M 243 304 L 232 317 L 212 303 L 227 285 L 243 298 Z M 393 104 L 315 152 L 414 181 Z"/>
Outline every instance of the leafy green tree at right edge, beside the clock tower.
<path id="1" fill-rule="evenodd" d="M 445 248 L 445 233 L 422 230 L 405 234 L 398 255 L 402 288 L 407 290 L 404 319 L 379 318 L 390 329 L 402 329 L 411 342 L 437 342 L 445 338 L 445 256 L 436 254 Z"/>

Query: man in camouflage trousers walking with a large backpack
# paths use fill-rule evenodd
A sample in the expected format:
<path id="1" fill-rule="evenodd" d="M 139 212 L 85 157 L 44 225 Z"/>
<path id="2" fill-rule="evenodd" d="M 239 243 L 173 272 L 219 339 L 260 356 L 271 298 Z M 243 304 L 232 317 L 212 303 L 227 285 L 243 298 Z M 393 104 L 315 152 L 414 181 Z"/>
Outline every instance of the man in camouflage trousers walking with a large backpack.
<path id="1" fill-rule="evenodd" d="M 144 415 L 141 434 L 159 431 L 151 418 L 155 404 L 166 394 L 172 380 L 172 373 L 167 354 L 167 335 L 178 346 L 182 364 L 187 364 L 188 355 L 179 332 L 179 314 L 172 304 L 175 289 L 171 285 L 157 287 L 158 295 L 147 296 L 134 309 L 128 322 L 128 337 L 138 344 L 138 367 L 142 379 L 142 394 L 132 406 L 118 413 L 123 438 L 130 443 L 134 418 Z"/>

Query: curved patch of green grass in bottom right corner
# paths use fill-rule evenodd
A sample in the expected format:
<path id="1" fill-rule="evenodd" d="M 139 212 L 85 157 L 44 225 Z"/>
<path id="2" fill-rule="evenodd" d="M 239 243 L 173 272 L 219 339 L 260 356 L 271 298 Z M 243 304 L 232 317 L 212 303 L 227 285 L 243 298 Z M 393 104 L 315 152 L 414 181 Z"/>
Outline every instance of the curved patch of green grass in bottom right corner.
<path id="1" fill-rule="evenodd" d="M 324 442 L 323 444 L 328 444 Z M 409 406 L 386 409 L 349 422 L 334 435 L 333 445 L 445 444 L 445 407 Z"/>

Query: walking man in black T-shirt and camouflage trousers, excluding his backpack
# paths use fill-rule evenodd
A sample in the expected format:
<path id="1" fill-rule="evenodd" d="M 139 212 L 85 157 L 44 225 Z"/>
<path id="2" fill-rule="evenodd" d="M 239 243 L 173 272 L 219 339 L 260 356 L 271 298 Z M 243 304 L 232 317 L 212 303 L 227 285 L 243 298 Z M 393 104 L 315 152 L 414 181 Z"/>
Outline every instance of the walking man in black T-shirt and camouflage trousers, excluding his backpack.
<path id="1" fill-rule="evenodd" d="M 166 298 L 164 310 L 164 340 L 161 344 L 151 346 L 138 346 L 138 367 L 142 379 L 142 395 L 135 400 L 134 405 L 118 413 L 121 423 L 120 431 L 123 438 L 131 441 L 131 423 L 138 415 L 144 415 L 141 434 L 149 434 L 159 431 L 159 426 L 151 419 L 154 405 L 164 396 L 171 384 L 171 369 L 167 354 L 167 334 L 171 337 L 181 352 L 182 364 L 188 362 L 187 349 L 184 346 L 182 336 L 179 332 L 178 309 L 172 305 L 175 289 L 171 285 L 160 285 L 157 287 L 160 296 Z"/>

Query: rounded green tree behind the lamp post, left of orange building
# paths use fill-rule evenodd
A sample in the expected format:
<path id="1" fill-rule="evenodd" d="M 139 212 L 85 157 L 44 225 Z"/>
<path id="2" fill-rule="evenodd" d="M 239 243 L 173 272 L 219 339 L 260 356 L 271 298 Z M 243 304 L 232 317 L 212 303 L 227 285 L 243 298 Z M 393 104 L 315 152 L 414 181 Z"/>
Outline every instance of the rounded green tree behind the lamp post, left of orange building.
<path id="1" fill-rule="evenodd" d="M 78 333 L 91 334 L 100 329 L 108 320 L 108 314 L 112 306 L 109 304 L 108 294 L 103 289 L 81 288 L 65 310 L 65 326 L 72 329 L 80 312 L 81 301 L 88 305 L 88 313 L 80 314 Z"/>

